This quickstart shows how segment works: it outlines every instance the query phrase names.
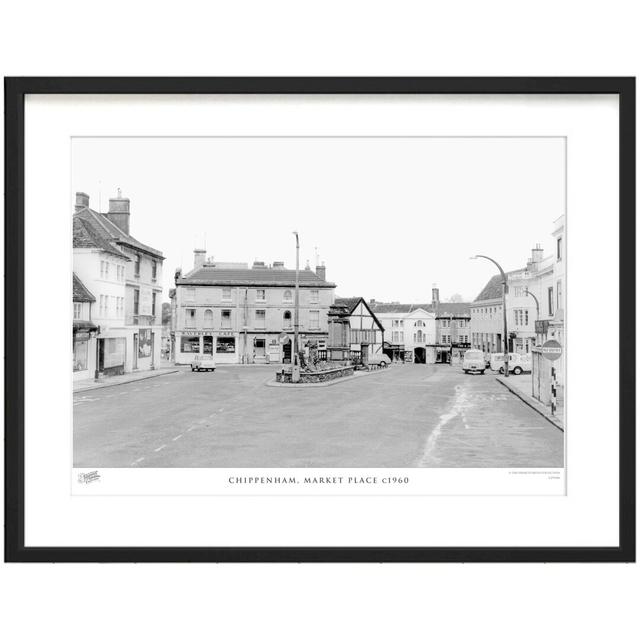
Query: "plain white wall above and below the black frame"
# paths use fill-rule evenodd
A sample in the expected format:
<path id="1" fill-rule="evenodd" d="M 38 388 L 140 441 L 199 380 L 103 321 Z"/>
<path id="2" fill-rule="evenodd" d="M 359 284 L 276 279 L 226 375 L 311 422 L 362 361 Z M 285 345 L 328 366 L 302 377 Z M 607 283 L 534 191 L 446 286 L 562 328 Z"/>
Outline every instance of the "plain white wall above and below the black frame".
<path id="1" fill-rule="evenodd" d="M 637 75 L 632 2 L 11 3 L 3 75 Z M 597 514 L 594 514 L 597 517 Z M 600 638 L 634 566 L 6 566 L 11 638 Z"/>

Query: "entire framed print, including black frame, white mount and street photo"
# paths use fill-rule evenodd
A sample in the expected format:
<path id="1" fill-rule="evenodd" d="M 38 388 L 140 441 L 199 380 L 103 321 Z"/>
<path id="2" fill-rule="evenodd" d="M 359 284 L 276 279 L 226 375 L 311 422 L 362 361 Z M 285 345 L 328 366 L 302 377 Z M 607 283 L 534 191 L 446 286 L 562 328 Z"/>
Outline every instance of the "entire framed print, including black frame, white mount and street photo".
<path id="1" fill-rule="evenodd" d="M 629 557 L 624 79 L 14 85 L 19 555 Z"/>

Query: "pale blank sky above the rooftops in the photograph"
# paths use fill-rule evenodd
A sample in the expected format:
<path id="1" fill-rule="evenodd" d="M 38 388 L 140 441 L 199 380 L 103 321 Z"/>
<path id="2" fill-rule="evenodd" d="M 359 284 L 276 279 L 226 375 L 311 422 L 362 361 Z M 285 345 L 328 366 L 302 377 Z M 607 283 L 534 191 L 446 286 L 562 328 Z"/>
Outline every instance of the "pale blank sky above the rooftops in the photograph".
<path id="1" fill-rule="evenodd" d="M 221 262 L 324 262 L 342 296 L 473 300 L 551 253 L 565 211 L 564 139 L 74 138 L 72 195 L 131 200 L 131 234 L 162 251 L 163 300 L 194 248 Z M 72 200 L 74 201 L 74 199 Z"/>

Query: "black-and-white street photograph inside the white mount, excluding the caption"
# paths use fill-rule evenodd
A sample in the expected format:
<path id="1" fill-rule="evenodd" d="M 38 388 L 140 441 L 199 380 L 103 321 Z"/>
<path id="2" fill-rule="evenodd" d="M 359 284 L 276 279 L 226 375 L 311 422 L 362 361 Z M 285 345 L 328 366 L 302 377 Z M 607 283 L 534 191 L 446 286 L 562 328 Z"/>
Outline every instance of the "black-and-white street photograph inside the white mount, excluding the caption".
<path id="1" fill-rule="evenodd" d="M 564 137 L 71 153 L 74 467 L 564 467 Z"/>

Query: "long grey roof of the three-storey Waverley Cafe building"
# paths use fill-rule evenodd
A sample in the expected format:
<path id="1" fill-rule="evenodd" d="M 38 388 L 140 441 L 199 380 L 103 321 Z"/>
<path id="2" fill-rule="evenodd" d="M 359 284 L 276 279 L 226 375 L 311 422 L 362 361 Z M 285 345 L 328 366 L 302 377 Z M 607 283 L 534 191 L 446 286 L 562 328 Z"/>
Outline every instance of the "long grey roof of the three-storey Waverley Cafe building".
<path id="1" fill-rule="evenodd" d="M 301 269 L 298 272 L 301 287 L 335 288 L 333 282 L 323 280 L 315 271 Z M 295 269 L 273 269 L 271 267 L 257 267 L 245 269 L 228 269 L 217 267 L 215 263 L 204 264 L 185 276 L 176 280 L 176 285 L 232 285 L 267 287 L 294 287 L 296 284 Z"/>

